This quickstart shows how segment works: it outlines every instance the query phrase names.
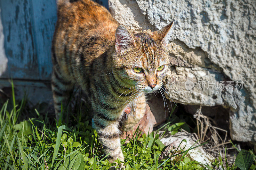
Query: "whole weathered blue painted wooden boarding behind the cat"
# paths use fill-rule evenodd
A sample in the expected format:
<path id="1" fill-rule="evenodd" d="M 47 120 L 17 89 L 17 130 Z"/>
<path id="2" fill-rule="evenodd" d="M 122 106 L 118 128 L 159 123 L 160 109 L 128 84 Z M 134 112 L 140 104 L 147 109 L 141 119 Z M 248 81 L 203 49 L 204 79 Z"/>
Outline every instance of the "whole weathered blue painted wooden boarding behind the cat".
<path id="1" fill-rule="evenodd" d="M 95 1 L 108 8 L 108 0 Z M 1 78 L 50 80 L 56 1 L 0 0 L 0 9 L 8 58 Z"/>

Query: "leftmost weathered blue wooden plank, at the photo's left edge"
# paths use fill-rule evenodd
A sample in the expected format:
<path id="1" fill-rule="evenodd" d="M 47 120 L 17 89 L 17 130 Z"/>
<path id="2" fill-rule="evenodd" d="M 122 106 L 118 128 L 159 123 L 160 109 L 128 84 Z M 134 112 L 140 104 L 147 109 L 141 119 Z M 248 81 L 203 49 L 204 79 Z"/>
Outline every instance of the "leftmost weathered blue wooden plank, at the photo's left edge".
<path id="1" fill-rule="evenodd" d="M 31 7 L 29 0 L 0 1 L 4 49 L 8 58 L 7 70 L 1 76 L 3 78 L 38 78 Z"/>

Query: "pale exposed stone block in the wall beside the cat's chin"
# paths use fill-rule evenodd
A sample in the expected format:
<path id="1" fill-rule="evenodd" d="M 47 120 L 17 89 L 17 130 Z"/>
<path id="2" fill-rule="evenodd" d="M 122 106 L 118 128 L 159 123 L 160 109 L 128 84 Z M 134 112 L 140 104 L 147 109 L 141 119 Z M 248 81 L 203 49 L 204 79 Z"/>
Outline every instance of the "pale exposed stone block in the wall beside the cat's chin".
<path id="1" fill-rule="evenodd" d="M 168 89 L 167 98 L 172 98 L 175 102 L 182 104 L 194 104 L 204 106 L 221 105 L 223 99 L 221 98 L 221 90 L 219 89 L 205 89 L 200 87 L 197 82 L 213 82 L 216 83 L 221 80 L 223 75 L 211 69 L 202 67 L 176 67 L 175 70 L 168 72 L 165 82 L 169 82 L 166 86 Z M 193 89 L 187 90 L 185 86 L 186 80 L 195 83 Z"/>

